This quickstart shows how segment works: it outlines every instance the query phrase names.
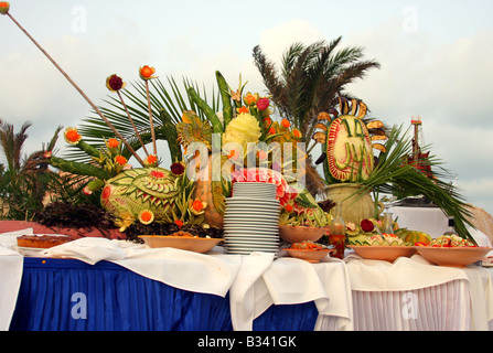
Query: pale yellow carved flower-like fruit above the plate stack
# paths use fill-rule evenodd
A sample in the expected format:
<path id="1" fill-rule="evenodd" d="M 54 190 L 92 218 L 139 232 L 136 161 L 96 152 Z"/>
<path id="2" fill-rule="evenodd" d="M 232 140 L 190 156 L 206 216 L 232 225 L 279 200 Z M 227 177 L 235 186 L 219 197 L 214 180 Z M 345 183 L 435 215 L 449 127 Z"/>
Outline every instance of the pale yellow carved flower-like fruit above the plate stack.
<path id="1" fill-rule="evenodd" d="M 229 142 L 237 142 L 247 151 L 249 142 L 257 143 L 261 137 L 258 120 L 249 114 L 240 114 L 226 126 L 223 135 L 223 146 Z M 226 151 L 228 153 L 228 151 Z"/>

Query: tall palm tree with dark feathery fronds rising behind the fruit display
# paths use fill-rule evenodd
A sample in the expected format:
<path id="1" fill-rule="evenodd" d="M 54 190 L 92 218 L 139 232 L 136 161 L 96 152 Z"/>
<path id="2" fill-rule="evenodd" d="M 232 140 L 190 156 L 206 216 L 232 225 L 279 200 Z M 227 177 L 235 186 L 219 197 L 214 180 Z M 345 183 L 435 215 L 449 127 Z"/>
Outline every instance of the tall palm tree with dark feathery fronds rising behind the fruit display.
<path id="1" fill-rule="evenodd" d="M 259 45 L 254 49 L 255 65 L 280 117 L 288 119 L 301 132 L 308 154 L 314 147 L 311 137 L 318 114 L 334 107 L 339 96 L 354 98 L 345 87 L 363 78 L 371 68 L 379 68 L 377 62 L 363 60 L 363 47 L 336 51 L 341 41 L 340 36 L 330 43 L 293 43 L 283 53 L 280 69 L 266 57 Z M 313 195 L 323 194 L 324 182 L 310 157 L 306 181 Z"/>

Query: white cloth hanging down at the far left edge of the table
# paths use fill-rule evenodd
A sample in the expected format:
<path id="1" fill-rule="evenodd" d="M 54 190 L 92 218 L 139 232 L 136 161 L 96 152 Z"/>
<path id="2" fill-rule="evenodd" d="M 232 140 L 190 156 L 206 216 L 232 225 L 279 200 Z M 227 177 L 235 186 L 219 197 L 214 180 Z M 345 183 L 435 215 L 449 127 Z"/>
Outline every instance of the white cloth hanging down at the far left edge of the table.
<path id="1" fill-rule="evenodd" d="M 23 265 L 22 255 L 0 246 L 0 331 L 9 330 L 21 286 Z"/>

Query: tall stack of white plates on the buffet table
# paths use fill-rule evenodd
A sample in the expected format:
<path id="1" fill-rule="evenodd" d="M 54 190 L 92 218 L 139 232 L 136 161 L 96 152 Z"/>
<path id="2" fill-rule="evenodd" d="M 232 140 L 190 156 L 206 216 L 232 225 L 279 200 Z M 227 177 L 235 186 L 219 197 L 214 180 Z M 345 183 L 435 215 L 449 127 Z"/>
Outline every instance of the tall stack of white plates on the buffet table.
<path id="1" fill-rule="evenodd" d="M 227 254 L 279 250 L 279 201 L 276 185 L 237 182 L 226 199 L 224 248 Z"/>

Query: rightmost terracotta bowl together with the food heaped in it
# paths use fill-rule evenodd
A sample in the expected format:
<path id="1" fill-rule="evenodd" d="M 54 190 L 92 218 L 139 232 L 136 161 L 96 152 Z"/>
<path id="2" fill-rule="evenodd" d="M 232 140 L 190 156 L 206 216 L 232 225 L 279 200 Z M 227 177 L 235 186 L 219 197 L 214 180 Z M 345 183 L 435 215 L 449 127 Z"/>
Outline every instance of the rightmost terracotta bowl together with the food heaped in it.
<path id="1" fill-rule="evenodd" d="M 416 249 L 428 261 L 438 266 L 465 267 L 481 260 L 492 250 L 480 247 L 457 235 L 442 235 L 430 244 L 417 244 Z"/>

